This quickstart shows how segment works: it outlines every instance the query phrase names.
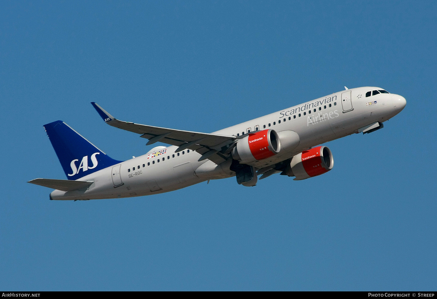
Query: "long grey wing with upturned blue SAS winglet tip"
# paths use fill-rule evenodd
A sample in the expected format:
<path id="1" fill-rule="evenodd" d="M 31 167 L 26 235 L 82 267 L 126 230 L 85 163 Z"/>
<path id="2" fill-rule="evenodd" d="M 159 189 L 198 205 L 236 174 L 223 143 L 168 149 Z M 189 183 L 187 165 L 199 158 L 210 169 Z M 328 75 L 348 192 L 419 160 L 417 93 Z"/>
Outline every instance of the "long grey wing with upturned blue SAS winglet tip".
<path id="1" fill-rule="evenodd" d="M 236 140 L 241 138 L 241 136 L 237 138 L 236 136 L 182 131 L 151 125 L 140 125 L 133 122 L 123 122 L 114 118 L 114 116 L 110 115 L 95 102 L 91 102 L 91 104 L 108 125 L 141 134 L 140 137 L 149 139 L 147 145 L 160 141 L 179 146 L 176 152 L 184 149 L 195 150 L 202 155 L 199 161 L 209 159 L 216 164 L 224 162 L 229 158 L 230 149 L 232 149 Z"/>

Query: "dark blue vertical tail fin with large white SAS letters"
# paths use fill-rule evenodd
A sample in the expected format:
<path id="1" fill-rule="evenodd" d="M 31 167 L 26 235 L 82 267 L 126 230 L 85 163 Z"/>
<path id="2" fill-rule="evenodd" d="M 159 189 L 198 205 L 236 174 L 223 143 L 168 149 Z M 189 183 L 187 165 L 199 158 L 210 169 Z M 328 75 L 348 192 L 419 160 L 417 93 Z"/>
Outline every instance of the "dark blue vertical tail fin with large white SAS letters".
<path id="1" fill-rule="evenodd" d="M 44 129 L 69 180 L 122 162 L 109 157 L 65 122 L 51 122 Z"/>

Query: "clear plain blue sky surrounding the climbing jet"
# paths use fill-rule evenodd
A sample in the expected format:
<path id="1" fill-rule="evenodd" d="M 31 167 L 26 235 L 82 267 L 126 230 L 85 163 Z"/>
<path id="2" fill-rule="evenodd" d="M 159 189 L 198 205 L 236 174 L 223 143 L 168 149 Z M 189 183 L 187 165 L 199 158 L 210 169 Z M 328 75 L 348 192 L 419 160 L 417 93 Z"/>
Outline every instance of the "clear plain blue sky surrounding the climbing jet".
<path id="1" fill-rule="evenodd" d="M 0 289 L 432 290 L 437 281 L 435 1 L 0 3 Z M 304 181 L 235 178 L 148 197 L 49 201 L 42 125 L 117 160 L 152 146 L 115 117 L 213 132 L 336 91 L 406 108 L 326 144 Z"/>

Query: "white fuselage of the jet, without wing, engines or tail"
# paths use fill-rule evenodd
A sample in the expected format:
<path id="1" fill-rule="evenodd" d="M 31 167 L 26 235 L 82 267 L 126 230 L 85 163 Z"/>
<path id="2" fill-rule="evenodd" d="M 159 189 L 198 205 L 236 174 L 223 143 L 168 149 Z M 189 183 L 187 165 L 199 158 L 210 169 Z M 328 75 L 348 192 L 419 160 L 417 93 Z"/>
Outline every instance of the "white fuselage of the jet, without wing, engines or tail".
<path id="1" fill-rule="evenodd" d="M 290 159 L 305 149 L 338 139 L 375 122 L 385 122 L 405 106 L 405 99 L 397 94 L 376 94 L 366 97 L 378 87 L 343 90 L 294 107 L 228 127 L 215 134 L 241 136 L 248 132 L 274 129 L 291 130 L 300 142 L 292 151 L 281 150 L 277 155 L 251 165 L 260 169 Z M 300 115 L 300 116 L 299 116 Z M 88 188 L 75 191 L 55 190 L 51 199 L 103 199 L 151 195 L 177 190 L 206 180 L 232 177 L 230 161 L 216 165 L 210 160 L 198 161 L 201 156 L 193 150 L 175 153 L 177 146 L 162 147 L 165 151 L 154 157 L 148 154 L 135 157 L 80 178 L 94 181 Z"/>

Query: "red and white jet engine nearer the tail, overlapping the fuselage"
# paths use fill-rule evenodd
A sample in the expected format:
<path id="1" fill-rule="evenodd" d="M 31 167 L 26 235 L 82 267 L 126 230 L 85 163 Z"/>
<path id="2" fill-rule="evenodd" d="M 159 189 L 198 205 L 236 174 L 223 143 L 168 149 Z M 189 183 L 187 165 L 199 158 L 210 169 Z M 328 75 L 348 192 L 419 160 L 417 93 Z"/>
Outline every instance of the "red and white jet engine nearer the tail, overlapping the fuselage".
<path id="1" fill-rule="evenodd" d="M 240 163 L 251 163 L 266 159 L 279 153 L 279 136 L 272 129 L 250 133 L 237 142 L 232 157 Z"/>

